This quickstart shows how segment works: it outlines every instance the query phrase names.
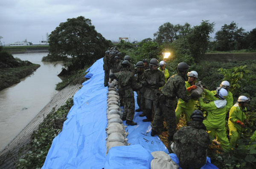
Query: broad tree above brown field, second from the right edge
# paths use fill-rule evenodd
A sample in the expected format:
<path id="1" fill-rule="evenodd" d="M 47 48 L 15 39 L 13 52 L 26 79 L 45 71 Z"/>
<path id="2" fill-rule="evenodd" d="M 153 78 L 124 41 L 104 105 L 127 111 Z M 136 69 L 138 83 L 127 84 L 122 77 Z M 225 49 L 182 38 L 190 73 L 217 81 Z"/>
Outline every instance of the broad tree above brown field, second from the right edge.
<path id="1" fill-rule="evenodd" d="M 217 51 L 231 51 L 246 48 L 245 37 L 247 33 L 243 28 L 238 28 L 237 24 L 232 21 L 230 25 L 224 24 L 221 30 L 215 33 Z"/>

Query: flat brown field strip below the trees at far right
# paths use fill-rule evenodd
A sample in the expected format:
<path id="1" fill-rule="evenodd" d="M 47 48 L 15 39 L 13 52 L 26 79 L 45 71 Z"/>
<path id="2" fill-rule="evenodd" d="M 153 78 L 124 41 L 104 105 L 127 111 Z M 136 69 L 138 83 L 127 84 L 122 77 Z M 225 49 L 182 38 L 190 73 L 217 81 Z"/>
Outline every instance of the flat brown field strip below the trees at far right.
<path id="1" fill-rule="evenodd" d="M 204 60 L 208 61 L 218 61 L 218 62 L 230 62 L 230 61 L 244 61 L 256 59 L 256 53 L 212 53 L 204 54 L 202 57 Z"/>

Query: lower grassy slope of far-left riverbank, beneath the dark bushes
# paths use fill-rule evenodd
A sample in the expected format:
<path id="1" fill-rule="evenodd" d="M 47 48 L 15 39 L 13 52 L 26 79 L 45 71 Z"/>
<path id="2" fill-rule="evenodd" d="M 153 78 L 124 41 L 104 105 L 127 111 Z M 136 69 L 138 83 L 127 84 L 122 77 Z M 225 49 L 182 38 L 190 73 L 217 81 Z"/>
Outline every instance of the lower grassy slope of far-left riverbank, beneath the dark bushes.
<path id="1" fill-rule="evenodd" d="M 10 87 L 20 82 L 20 79 L 31 75 L 40 65 L 30 64 L 17 68 L 1 68 L 0 69 L 0 90 Z"/>

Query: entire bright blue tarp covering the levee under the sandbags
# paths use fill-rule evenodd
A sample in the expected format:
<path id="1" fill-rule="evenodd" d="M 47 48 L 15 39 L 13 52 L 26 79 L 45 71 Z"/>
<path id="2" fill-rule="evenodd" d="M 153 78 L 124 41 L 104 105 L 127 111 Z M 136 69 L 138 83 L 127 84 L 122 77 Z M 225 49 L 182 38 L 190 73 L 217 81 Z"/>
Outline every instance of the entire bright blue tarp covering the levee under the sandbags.
<path id="1" fill-rule="evenodd" d="M 126 128 L 131 146 L 113 147 L 106 156 L 108 88 L 103 85 L 102 65 L 103 58 L 88 69 L 85 77 L 90 79 L 74 95 L 74 105 L 63 130 L 54 138 L 42 169 L 150 169 L 151 152 L 169 153 L 159 137 L 151 137 L 150 122 L 143 122 L 145 117 L 136 112 L 134 121 L 138 125 Z"/>

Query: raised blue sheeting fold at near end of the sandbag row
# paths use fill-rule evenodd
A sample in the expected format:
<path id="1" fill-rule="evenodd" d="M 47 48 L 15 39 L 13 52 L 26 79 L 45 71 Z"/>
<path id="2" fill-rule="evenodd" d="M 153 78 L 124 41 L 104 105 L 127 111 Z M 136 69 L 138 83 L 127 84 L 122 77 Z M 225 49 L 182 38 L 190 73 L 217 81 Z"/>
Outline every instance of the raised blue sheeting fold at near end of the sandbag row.
<path id="1" fill-rule="evenodd" d="M 150 169 L 151 160 L 152 155 L 140 144 L 117 146 L 109 150 L 105 169 Z"/>

